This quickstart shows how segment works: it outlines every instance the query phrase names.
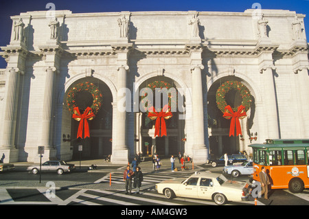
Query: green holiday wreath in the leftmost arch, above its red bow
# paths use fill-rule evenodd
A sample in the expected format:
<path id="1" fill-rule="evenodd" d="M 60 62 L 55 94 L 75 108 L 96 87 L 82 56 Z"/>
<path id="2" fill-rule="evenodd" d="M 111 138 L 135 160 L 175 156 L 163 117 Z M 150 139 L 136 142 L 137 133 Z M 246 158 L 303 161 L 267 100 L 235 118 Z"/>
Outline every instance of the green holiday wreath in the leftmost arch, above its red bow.
<path id="1" fill-rule="evenodd" d="M 82 91 L 88 91 L 93 97 L 93 104 L 90 106 L 93 113 L 96 114 L 102 106 L 103 96 L 98 87 L 91 82 L 82 82 L 74 85 L 67 93 L 67 107 L 70 113 L 74 114 L 73 108 L 76 106 L 76 95 Z"/>

